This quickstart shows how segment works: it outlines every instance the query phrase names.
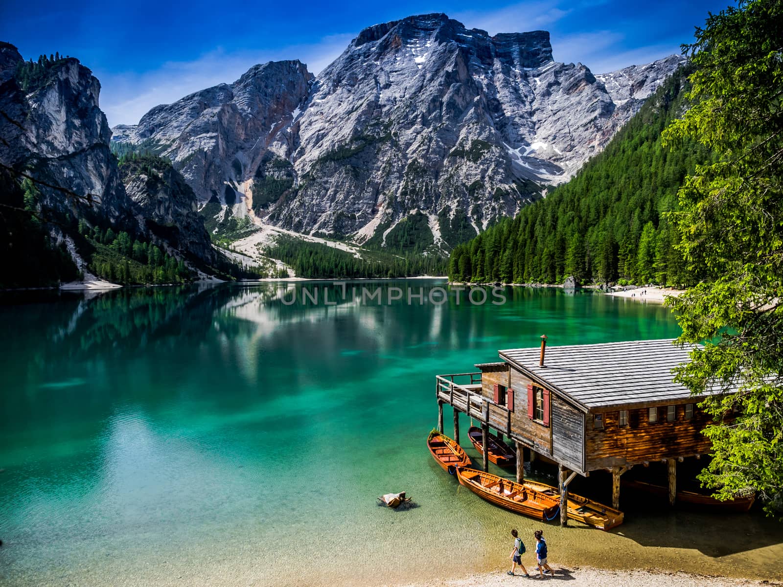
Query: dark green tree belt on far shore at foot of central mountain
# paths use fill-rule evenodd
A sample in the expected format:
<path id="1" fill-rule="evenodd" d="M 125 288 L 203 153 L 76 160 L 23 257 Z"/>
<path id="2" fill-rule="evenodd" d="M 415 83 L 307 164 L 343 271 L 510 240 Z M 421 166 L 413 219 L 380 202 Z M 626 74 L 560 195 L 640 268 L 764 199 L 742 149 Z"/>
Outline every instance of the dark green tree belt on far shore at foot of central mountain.
<path id="1" fill-rule="evenodd" d="M 382 251 L 365 251 L 355 257 L 345 250 L 323 243 L 290 237 L 278 237 L 264 252 L 280 259 L 294 269 L 298 277 L 358 279 L 374 277 L 409 277 L 411 275 L 442 275 L 445 261 L 436 255 L 400 255 Z"/>

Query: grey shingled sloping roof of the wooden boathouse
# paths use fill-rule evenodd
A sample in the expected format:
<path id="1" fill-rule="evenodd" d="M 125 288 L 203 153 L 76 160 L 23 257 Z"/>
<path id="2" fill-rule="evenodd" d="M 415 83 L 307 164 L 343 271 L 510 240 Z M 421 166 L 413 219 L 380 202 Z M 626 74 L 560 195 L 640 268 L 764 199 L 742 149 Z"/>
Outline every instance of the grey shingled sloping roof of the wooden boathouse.
<path id="1" fill-rule="evenodd" d="M 632 340 L 604 344 L 513 348 L 500 357 L 529 373 L 584 409 L 612 408 L 690 398 L 691 392 L 673 381 L 672 369 L 690 362 L 692 345 L 677 347 L 671 339 Z"/>

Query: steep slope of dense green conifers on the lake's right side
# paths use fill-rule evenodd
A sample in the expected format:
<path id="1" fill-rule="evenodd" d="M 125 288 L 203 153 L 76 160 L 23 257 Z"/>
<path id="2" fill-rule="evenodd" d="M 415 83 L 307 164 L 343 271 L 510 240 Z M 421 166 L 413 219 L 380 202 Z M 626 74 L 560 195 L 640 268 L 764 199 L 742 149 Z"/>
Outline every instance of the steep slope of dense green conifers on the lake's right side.
<path id="1" fill-rule="evenodd" d="M 677 150 L 661 142 L 662 130 L 687 108 L 687 74 L 677 70 L 570 182 L 455 247 L 449 278 L 692 283 L 697 275 L 674 248 L 680 237 L 666 212 L 676 209 L 685 176 L 711 156 L 695 142 Z"/>

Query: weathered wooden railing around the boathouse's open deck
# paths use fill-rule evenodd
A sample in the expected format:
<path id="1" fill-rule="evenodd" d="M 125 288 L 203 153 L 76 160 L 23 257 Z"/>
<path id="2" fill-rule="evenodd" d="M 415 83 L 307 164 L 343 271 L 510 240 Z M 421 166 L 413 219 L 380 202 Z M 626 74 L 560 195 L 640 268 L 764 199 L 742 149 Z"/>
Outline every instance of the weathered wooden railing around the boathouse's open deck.
<path id="1" fill-rule="evenodd" d="M 460 380 L 463 383 L 457 383 Z M 505 405 L 496 404 L 482 395 L 481 373 L 436 375 L 435 396 L 479 423 L 503 434 L 511 434 L 511 412 Z"/>

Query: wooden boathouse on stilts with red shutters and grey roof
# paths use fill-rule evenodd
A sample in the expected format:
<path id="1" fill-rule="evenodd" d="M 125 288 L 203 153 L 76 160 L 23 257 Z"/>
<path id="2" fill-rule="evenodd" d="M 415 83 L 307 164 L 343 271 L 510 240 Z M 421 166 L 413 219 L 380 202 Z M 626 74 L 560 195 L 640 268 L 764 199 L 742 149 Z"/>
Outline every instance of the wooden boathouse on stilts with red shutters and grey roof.
<path id="1" fill-rule="evenodd" d="M 619 507 L 620 476 L 631 467 L 668 465 L 669 502 L 677 495 L 677 463 L 709 452 L 701 431 L 709 418 L 699 399 L 673 381 L 672 369 L 689 362 L 690 348 L 669 339 L 578 344 L 499 351 L 502 361 L 482 363 L 474 373 L 436 376 L 438 428 L 443 405 L 481 423 L 483 466 L 493 428 L 514 441 L 517 481 L 523 481 L 524 448 L 559 466 L 561 504 L 576 475 L 612 473 L 612 506 Z M 561 524 L 566 524 L 561 506 Z"/>

